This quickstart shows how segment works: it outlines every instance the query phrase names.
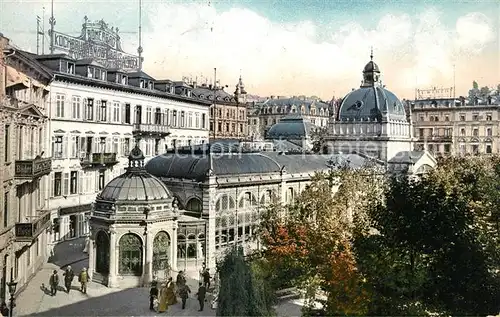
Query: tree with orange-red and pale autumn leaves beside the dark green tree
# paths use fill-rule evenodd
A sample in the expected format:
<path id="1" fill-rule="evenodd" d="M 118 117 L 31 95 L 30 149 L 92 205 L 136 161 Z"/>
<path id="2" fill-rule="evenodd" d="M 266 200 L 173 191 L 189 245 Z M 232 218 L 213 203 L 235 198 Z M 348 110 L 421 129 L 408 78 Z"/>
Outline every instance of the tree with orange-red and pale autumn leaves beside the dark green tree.
<path id="1" fill-rule="evenodd" d="M 361 171 L 318 174 L 296 201 L 271 206 L 261 219 L 266 259 L 293 285 L 309 290 L 307 303 L 314 303 L 321 289 L 327 315 L 366 312 L 369 294 L 351 237 L 353 224 L 363 223 L 369 200 L 377 196 L 376 184 L 373 174 Z"/>

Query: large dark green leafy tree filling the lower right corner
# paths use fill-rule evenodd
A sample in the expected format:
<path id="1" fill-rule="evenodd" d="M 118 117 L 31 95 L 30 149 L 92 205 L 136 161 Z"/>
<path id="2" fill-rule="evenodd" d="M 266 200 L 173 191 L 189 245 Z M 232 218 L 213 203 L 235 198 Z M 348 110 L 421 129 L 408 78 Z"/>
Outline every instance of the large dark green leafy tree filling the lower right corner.
<path id="1" fill-rule="evenodd" d="M 378 234 L 355 240 L 371 314 L 500 311 L 498 162 L 448 159 L 421 180 L 392 179 L 370 211 Z"/>

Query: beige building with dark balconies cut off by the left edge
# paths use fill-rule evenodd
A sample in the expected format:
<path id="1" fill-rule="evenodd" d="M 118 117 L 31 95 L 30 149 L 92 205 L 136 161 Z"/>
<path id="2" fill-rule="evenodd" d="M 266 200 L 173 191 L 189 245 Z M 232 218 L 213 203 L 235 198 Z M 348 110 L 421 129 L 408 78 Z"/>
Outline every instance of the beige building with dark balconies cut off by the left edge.
<path id="1" fill-rule="evenodd" d="M 50 72 L 0 34 L 0 301 L 47 259 L 50 232 L 46 85 Z"/>

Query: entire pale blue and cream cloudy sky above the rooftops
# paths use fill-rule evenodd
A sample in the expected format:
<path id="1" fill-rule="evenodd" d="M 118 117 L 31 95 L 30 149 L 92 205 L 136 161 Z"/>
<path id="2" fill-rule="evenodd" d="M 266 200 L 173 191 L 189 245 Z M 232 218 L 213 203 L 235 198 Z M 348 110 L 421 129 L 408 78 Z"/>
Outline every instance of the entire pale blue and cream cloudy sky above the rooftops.
<path id="1" fill-rule="evenodd" d="M 0 0 L 0 32 L 36 52 L 36 16 L 48 29 L 50 8 L 50 0 Z M 85 15 L 104 19 L 135 53 L 138 8 L 139 0 L 54 0 L 55 29 L 77 36 Z M 500 83 L 498 0 L 143 0 L 142 20 L 145 72 L 210 83 L 217 68 L 230 92 L 241 75 L 250 94 L 343 97 L 359 87 L 372 47 L 400 98 Z"/>

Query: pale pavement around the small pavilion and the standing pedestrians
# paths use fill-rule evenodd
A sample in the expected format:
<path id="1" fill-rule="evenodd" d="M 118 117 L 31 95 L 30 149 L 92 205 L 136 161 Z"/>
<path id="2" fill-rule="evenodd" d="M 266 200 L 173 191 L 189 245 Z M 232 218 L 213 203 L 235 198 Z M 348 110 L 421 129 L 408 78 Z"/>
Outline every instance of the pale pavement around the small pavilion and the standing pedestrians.
<path id="1" fill-rule="evenodd" d="M 18 295 L 15 316 L 215 316 L 215 310 L 210 307 L 210 297 L 204 311 L 198 311 L 198 301 L 194 296 L 198 288 L 197 272 L 188 272 L 188 285 L 192 293 L 186 309 L 183 310 L 181 304 L 177 303 L 164 314 L 149 310 L 149 288 L 116 289 L 89 283 L 87 294 L 83 294 L 75 278 L 69 294 L 61 287 L 56 296 L 50 296 L 47 284 L 54 269 L 60 271 L 71 264 L 73 270 L 79 272 L 82 267 L 88 267 L 88 258 L 81 252 L 82 241 L 73 240 L 58 245 L 56 255 L 51 259 L 53 263 L 45 264 Z M 277 307 L 277 312 L 279 316 L 300 316 L 300 306 L 295 301 L 286 301 Z"/>

